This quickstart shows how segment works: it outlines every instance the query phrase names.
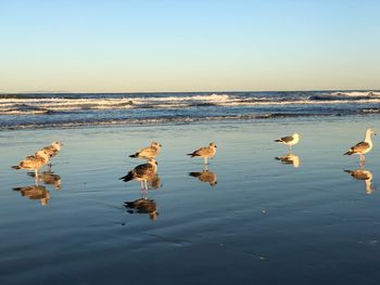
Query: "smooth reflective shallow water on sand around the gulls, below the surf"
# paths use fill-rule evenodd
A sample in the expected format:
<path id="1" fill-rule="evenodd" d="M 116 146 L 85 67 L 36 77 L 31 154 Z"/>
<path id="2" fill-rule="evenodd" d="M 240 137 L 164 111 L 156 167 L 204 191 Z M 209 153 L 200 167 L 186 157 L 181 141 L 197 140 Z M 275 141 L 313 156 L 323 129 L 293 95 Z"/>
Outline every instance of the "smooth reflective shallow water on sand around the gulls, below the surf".
<path id="1" fill-rule="evenodd" d="M 355 116 L 2 131 L 0 282 L 378 284 L 378 139 L 367 189 L 344 172 L 358 157 L 342 154 L 379 126 Z M 288 152 L 273 142 L 294 131 L 299 167 L 276 160 Z M 10 166 L 54 140 L 64 143 L 52 166 L 61 186 L 41 181 L 35 199 L 22 196 L 13 189 L 34 178 Z M 123 204 L 141 198 L 140 186 L 118 178 L 152 140 L 163 144 L 161 186 L 148 192 L 159 213 L 130 213 Z M 203 164 L 185 155 L 211 141 L 214 186 L 189 176 Z"/>

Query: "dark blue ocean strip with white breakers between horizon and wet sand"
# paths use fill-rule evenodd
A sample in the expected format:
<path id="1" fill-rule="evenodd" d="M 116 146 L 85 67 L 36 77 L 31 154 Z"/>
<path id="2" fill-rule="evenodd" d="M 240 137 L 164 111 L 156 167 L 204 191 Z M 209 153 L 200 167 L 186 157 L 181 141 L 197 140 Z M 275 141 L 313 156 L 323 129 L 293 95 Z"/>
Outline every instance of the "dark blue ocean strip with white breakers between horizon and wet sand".
<path id="1" fill-rule="evenodd" d="M 0 94 L 0 130 L 380 113 L 380 91 Z"/>

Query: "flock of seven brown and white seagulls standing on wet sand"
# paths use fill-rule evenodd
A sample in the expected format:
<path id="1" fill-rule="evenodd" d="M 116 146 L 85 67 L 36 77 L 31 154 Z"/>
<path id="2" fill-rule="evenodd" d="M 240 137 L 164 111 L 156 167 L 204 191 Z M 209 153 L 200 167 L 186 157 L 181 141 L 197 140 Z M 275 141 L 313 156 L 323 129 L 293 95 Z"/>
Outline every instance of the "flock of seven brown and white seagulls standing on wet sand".
<path id="1" fill-rule="evenodd" d="M 372 140 L 371 137 L 375 135 L 376 132 L 373 129 L 367 129 L 365 139 L 363 142 L 359 142 L 352 146 L 344 155 L 359 155 L 360 156 L 360 166 L 363 167 L 365 165 L 365 154 L 369 153 L 372 150 Z M 282 143 L 289 147 L 291 151 L 292 146 L 297 144 L 301 140 L 301 135 L 299 133 L 294 133 L 292 135 L 283 137 L 278 140 L 275 140 L 275 142 Z M 34 170 L 35 171 L 35 179 L 36 183 L 38 182 L 39 174 L 38 170 L 42 168 L 43 166 L 50 165 L 50 160 L 56 156 L 62 147 L 61 142 L 53 142 L 49 146 L 45 146 L 37 152 L 35 152 L 34 155 L 27 156 L 24 160 L 21 160 L 18 165 L 12 166 L 13 169 L 25 169 L 25 170 Z M 150 146 L 143 147 L 140 151 L 136 152 L 135 154 L 130 155 L 129 157 L 132 158 L 142 158 L 147 159 L 148 161 L 145 164 L 139 165 L 135 167 L 132 170 L 130 170 L 126 176 L 119 178 L 121 180 L 128 182 L 131 180 L 140 181 L 141 183 L 141 190 L 148 191 L 148 181 L 154 180 L 157 172 L 157 161 L 155 160 L 156 156 L 160 154 L 162 145 L 159 142 L 152 142 Z M 204 159 L 204 165 L 208 165 L 208 158 L 212 158 L 216 155 L 216 144 L 214 142 L 211 142 L 208 146 L 200 147 L 195 150 L 192 153 L 187 154 L 190 157 L 199 157 Z M 293 155 L 294 156 L 294 155 Z M 294 163 L 294 157 L 292 158 L 291 154 L 287 155 L 286 158 L 277 158 L 277 159 L 290 159 L 292 163 Z M 198 177 L 201 181 L 202 179 L 208 179 L 205 178 L 207 176 L 207 168 L 203 172 L 191 172 L 189 173 L 192 177 Z M 353 174 L 353 173 L 351 173 Z M 215 176 L 215 174 L 214 174 Z M 213 182 L 214 185 L 216 184 L 216 179 Z M 212 185 L 212 182 L 211 182 Z"/>

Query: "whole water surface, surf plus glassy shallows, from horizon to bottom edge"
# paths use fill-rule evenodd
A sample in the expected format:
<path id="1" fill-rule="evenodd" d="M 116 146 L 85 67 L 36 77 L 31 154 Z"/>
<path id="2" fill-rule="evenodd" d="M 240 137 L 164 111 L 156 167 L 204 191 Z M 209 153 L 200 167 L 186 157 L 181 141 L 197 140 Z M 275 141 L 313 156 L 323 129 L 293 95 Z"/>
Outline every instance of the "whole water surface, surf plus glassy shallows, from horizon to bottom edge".
<path id="1" fill-rule="evenodd" d="M 0 100 L 0 284 L 376 285 L 379 91 Z M 292 152 L 276 139 L 297 132 Z M 52 166 L 11 166 L 53 141 Z M 149 191 L 119 180 L 162 144 Z M 215 142 L 216 155 L 186 154 Z M 356 173 L 356 174 L 355 174 Z M 150 207 L 126 205 L 145 200 Z"/>

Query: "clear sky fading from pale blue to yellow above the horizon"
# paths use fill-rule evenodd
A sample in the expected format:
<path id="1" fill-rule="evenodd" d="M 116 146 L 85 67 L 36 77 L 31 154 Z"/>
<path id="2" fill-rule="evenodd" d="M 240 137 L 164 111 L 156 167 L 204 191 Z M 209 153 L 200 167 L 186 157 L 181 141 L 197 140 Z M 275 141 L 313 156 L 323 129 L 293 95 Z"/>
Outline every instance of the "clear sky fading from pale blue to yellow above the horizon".
<path id="1" fill-rule="evenodd" d="M 1 0 L 0 91 L 380 89 L 377 0 Z"/>

